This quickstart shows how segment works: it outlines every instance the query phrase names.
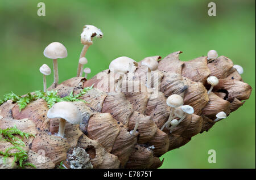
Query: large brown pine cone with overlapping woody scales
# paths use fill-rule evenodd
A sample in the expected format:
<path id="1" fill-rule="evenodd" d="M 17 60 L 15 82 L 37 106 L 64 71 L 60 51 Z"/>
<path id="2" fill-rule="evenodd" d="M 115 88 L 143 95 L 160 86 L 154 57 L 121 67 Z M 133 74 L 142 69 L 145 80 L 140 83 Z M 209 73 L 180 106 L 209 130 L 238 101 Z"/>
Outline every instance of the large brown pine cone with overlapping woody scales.
<path id="1" fill-rule="evenodd" d="M 90 157 L 90 162 L 85 162 L 86 167 L 91 163 L 93 168 L 159 168 L 163 164 L 160 156 L 188 143 L 192 136 L 208 131 L 216 123 L 217 113 L 229 115 L 237 110 L 252 90 L 243 82 L 229 58 L 221 56 L 208 61 L 207 57 L 199 57 L 182 62 L 180 53 L 172 53 L 162 60 L 159 56 L 150 57 L 159 60 L 159 68 L 151 77 L 151 84 L 158 82 L 157 87 L 146 87 L 142 82 L 148 68 L 141 62 L 135 74 L 123 81 L 121 92 L 113 91 L 112 85 L 117 84 L 118 75 L 110 70 L 102 71 L 90 80 L 71 78 L 57 85 L 55 89 L 60 97 L 68 96 L 72 91 L 76 95 L 91 85 L 94 87 L 80 97 L 90 103 L 73 102 L 82 113 L 82 123 L 72 125 L 67 122 L 65 138 L 55 135 L 59 119 L 47 117 L 48 106 L 43 99 L 31 102 L 22 111 L 18 104 L 5 102 L 0 106 L 0 128 L 15 124 L 24 132 L 36 134 L 25 140 L 24 148 L 29 151 L 28 161 L 38 168 L 54 168 L 61 161 L 69 168 L 70 157 L 77 148 L 84 149 Z M 208 95 L 209 76 L 216 76 L 219 83 Z M 135 88 L 138 91 L 127 91 Z M 192 106 L 194 113 L 188 114 L 170 133 L 167 127 L 161 128 L 171 112 L 166 100 L 173 94 L 183 97 L 184 104 Z M 130 131 L 137 123 L 138 132 L 131 135 Z M 0 140 L 0 151 L 8 145 Z M 43 164 L 33 161 L 40 156 L 38 152 L 41 150 L 46 157 Z M 11 165 L 6 167 L 11 168 Z"/>

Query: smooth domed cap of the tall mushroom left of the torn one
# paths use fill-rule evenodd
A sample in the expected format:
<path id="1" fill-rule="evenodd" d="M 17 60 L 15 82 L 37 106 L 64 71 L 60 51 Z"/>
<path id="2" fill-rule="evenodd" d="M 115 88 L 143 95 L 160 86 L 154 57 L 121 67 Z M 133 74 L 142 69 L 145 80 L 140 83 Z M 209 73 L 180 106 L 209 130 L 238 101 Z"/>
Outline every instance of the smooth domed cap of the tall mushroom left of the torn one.
<path id="1" fill-rule="evenodd" d="M 49 59 L 59 59 L 68 56 L 68 51 L 60 42 L 52 42 L 44 49 L 44 56 Z"/>

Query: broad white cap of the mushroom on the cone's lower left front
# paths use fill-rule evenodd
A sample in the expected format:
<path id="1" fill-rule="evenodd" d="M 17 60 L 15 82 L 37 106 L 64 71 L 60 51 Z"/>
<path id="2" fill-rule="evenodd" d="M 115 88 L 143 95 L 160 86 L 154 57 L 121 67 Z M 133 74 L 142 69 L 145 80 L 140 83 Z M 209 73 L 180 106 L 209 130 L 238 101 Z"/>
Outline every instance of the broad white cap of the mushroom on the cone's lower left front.
<path id="1" fill-rule="evenodd" d="M 48 110 L 48 118 L 63 118 L 69 123 L 79 124 L 82 121 L 82 115 L 79 109 L 72 102 L 57 102 Z"/>

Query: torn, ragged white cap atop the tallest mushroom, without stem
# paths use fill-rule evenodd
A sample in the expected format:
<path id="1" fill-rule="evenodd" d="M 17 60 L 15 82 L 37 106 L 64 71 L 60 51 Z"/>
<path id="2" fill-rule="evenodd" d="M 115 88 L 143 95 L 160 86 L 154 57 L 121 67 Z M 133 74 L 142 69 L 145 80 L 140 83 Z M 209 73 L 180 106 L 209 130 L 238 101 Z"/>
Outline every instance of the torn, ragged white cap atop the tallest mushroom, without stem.
<path id="1" fill-rule="evenodd" d="M 101 38 L 103 36 L 101 29 L 98 29 L 94 25 L 84 25 L 81 33 L 81 43 L 83 45 L 92 45 L 92 38 L 94 36 Z"/>

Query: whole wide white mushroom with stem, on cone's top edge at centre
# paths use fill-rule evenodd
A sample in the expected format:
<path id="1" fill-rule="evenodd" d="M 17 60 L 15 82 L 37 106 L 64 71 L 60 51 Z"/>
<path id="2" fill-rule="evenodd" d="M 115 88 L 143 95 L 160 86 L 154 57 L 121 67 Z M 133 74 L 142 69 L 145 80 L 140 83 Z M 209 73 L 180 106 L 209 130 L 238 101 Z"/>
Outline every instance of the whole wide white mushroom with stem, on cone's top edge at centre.
<path id="1" fill-rule="evenodd" d="M 110 63 L 109 70 L 111 72 L 119 74 L 119 80 L 117 82 L 117 87 L 115 88 L 115 91 L 119 91 L 119 89 L 121 88 L 123 76 L 127 74 L 127 72 L 135 72 L 137 66 L 138 63 L 136 61 L 125 56 L 116 58 Z"/>

